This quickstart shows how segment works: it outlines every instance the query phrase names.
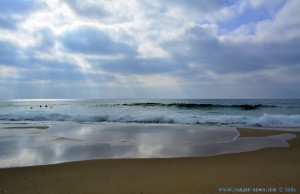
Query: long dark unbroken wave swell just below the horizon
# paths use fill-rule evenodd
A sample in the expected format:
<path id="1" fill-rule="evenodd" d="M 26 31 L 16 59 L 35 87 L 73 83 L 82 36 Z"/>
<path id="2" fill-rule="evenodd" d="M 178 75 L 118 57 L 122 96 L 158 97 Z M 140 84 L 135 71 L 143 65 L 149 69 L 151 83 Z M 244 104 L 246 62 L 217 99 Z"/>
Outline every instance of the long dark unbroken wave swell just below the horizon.
<path id="1" fill-rule="evenodd" d="M 255 110 L 258 108 L 272 108 L 273 105 L 264 104 L 235 104 L 235 105 L 222 105 L 222 104 L 196 104 L 196 103 L 131 103 L 122 104 L 122 106 L 143 106 L 143 107 L 176 107 L 185 109 L 213 109 L 213 108 L 238 108 L 242 110 Z"/>

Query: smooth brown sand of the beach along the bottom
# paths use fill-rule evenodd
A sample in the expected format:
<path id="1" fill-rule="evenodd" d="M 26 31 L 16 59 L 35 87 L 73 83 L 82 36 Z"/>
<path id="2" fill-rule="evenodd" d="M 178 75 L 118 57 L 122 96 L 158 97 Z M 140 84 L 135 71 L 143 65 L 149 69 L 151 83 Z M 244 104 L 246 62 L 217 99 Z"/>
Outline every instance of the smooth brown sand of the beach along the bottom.
<path id="1" fill-rule="evenodd" d="M 218 188 L 300 191 L 300 133 L 239 132 L 243 137 L 293 133 L 297 138 L 286 148 L 212 157 L 107 159 L 0 169 L 0 193 L 230 193 Z"/>

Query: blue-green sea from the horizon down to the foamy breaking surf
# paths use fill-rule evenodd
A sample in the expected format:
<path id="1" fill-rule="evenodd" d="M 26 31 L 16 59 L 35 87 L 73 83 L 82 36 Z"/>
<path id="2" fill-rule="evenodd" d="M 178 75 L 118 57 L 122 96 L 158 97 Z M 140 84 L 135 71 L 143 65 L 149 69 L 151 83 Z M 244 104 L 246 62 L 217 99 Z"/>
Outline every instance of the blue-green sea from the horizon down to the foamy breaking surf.
<path id="1" fill-rule="evenodd" d="M 0 122 L 299 127 L 300 100 L 1 100 Z"/>

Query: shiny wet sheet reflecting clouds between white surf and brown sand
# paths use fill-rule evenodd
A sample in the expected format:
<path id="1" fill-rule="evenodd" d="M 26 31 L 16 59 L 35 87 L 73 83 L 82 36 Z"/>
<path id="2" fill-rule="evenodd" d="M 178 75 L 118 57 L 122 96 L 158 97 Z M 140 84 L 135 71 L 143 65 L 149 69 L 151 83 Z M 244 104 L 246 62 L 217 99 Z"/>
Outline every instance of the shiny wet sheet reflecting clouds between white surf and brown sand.
<path id="1" fill-rule="evenodd" d="M 0 167 L 31 166 L 96 158 L 212 156 L 287 147 L 293 134 L 238 137 L 235 128 L 164 124 L 0 127 Z"/>

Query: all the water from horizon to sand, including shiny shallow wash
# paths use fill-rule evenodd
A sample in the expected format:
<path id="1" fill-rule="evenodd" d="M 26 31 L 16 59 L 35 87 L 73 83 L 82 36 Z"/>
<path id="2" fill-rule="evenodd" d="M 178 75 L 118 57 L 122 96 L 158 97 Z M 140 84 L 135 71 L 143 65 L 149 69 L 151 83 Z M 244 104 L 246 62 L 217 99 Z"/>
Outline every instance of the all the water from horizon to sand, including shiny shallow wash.
<path id="1" fill-rule="evenodd" d="M 288 147 L 299 126 L 300 100 L 1 100 L 0 168 Z M 236 127 L 287 132 L 241 137 Z"/>

